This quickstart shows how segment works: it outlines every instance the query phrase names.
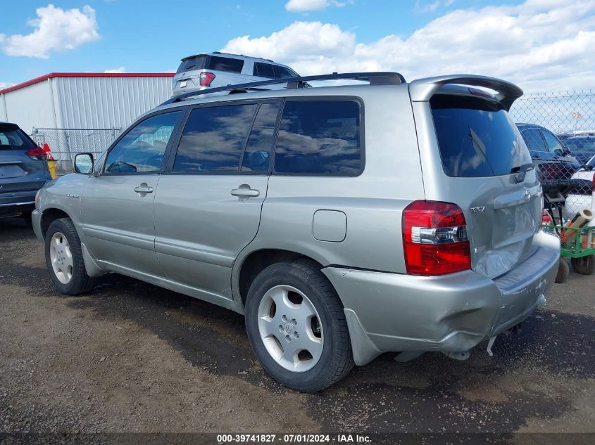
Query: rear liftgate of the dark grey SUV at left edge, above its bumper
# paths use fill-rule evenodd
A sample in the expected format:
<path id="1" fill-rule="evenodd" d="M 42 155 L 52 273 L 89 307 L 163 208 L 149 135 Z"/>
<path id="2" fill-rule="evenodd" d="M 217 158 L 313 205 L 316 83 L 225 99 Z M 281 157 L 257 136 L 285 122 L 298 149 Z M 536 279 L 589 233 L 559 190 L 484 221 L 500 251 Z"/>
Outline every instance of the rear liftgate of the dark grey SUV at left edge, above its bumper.
<path id="1" fill-rule="evenodd" d="M 48 179 L 42 150 L 15 124 L 0 123 L 0 194 L 37 191 Z"/>

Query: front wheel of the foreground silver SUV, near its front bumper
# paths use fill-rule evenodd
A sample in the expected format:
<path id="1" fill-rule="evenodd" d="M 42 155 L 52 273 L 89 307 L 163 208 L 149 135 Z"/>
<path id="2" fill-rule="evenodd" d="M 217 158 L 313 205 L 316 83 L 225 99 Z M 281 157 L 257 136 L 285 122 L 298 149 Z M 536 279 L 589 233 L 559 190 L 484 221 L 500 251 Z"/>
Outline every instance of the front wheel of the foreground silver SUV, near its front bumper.
<path id="1" fill-rule="evenodd" d="M 52 222 L 45 236 L 46 266 L 56 289 L 65 295 L 80 295 L 95 285 L 84 269 L 80 238 L 69 218 Z"/>

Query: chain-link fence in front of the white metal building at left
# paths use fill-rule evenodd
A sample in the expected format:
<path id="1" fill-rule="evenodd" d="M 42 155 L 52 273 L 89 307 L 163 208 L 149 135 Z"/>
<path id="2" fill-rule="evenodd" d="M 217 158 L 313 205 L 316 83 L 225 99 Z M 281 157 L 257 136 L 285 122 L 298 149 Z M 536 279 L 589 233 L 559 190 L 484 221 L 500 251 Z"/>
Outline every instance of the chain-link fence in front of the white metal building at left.
<path id="1" fill-rule="evenodd" d="M 34 128 L 32 138 L 39 146 L 49 145 L 61 173 L 72 172 L 77 153 L 93 153 L 99 157 L 111 145 L 122 129 Z"/>

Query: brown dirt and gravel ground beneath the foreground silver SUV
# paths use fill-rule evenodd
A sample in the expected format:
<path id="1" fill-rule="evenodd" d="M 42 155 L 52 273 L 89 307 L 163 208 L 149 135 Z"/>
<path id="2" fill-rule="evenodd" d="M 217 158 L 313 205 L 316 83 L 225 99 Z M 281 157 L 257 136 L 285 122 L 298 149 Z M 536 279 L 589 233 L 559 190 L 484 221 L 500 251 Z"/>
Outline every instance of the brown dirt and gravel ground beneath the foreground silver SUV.
<path id="1" fill-rule="evenodd" d="M 0 219 L 0 432 L 595 432 L 595 276 L 571 273 L 520 335 L 291 392 L 243 318 L 110 275 L 65 297 L 42 245 Z"/>

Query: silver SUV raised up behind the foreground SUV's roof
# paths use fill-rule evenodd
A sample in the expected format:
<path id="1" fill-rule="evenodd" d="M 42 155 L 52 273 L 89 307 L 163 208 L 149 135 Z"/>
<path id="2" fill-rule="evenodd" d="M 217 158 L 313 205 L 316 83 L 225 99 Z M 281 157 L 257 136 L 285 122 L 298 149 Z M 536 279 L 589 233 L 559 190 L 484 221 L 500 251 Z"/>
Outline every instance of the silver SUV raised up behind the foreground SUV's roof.
<path id="1" fill-rule="evenodd" d="M 215 51 L 183 58 L 173 77 L 173 93 L 177 96 L 218 86 L 289 77 L 298 75 L 287 65 L 275 63 L 273 60 Z M 272 89 L 283 87 L 271 86 Z"/>

